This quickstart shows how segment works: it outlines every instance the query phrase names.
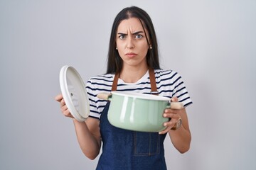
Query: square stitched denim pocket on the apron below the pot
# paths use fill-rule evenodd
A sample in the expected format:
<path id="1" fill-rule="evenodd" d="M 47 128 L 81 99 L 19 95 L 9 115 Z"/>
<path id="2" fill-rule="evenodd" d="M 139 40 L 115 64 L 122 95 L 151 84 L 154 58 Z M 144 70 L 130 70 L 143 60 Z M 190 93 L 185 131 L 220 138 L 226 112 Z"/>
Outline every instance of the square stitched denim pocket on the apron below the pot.
<path id="1" fill-rule="evenodd" d="M 134 156 L 159 154 L 160 135 L 158 132 L 134 132 Z"/>

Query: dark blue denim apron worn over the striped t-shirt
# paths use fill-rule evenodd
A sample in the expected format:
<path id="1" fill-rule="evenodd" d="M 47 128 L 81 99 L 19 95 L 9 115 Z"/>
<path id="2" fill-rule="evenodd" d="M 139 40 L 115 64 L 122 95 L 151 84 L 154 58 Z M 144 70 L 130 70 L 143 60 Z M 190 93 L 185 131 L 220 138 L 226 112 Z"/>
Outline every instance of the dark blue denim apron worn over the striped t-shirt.
<path id="1" fill-rule="evenodd" d="M 166 134 L 159 135 L 158 132 L 136 132 L 116 128 L 107 119 L 109 107 L 110 102 L 107 103 L 100 116 L 103 145 L 96 169 L 166 170 L 164 158 Z"/>

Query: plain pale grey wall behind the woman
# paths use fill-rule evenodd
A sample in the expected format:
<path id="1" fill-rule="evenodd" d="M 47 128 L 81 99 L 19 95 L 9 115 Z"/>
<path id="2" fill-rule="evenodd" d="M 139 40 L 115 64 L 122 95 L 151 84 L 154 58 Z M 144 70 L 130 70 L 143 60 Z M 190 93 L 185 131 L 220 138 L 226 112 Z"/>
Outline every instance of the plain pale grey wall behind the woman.
<path id="1" fill-rule="evenodd" d="M 167 137 L 169 169 L 256 169 L 255 0 L 0 0 L 0 169 L 95 169 L 54 101 L 58 76 L 65 64 L 84 81 L 104 74 L 114 17 L 132 5 L 193 99 L 191 149 Z"/>

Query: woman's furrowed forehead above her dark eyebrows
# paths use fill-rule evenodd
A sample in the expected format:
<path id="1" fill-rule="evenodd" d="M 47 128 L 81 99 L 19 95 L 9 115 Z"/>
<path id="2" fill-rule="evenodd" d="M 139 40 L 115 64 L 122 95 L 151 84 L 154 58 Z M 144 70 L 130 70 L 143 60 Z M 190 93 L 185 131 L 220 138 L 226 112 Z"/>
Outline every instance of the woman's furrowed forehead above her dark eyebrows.
<path id="1" fill-rule="evenodd" d="M 121 23 L 119 23 L 119 26 L 117 28 L 117 32 L 134 32 L 138 30 L 143 31 L 142 23 L 139 21 L 138 18 L 125 19 L 121 21 Z"/>

